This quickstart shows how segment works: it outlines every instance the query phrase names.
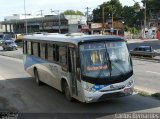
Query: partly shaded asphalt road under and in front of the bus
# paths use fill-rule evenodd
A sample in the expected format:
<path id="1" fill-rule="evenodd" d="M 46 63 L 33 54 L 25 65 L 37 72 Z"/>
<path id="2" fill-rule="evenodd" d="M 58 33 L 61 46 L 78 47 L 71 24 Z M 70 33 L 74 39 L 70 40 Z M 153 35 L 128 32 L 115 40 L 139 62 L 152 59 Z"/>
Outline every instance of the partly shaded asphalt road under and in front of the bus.
<path id="1" fill-rule="evenodd" d="M 159 113 L 159 110 L 159 100 L 137 94 L 91 104 L 68 102 L 64 95 L 54 88 L 47 85 L 38 87 L 23 70 L 21 60 L 0 56 L 0 111 L 86 115 L 98 113 L 96 118 L 105 118 L 110 113 Z"/>

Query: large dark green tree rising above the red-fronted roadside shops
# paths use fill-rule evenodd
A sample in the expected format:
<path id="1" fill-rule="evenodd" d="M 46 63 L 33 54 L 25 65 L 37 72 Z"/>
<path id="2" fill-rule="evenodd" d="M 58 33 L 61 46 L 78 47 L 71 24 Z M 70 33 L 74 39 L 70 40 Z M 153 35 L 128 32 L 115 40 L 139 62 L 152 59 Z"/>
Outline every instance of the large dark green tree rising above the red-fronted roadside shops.
<path id="1" fill-rule="evenodd" d="M 103 16 L 104 9 L 104 16 Z M 98 8 L 93 10 L 93 22 L 102 22 L 104 19 L 111 19 L 112 14 L 114 20 L 121 19 L 125 25 L 129 27 L 139 27 L 144 19 L 143 11 L 140 10 L 140 5 L 135 3 L 133 6 L 124 6 L 119 0 L 110 0 L 99 5 Z"/>

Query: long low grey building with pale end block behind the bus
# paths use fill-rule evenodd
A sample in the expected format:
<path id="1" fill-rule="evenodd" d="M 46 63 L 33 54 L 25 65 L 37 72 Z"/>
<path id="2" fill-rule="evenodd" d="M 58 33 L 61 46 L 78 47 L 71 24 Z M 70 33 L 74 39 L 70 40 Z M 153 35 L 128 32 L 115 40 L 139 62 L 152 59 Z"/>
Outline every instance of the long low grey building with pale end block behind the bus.
<path id="1" fill-rule="evenodd" d="M 72 33 L 81 31 L 86 24 L 86 17 L 81 15 L 45 15 L 44 17 L 13 15 L 0 22 L 6 33 L 25 34 L 34 32 Z"/>

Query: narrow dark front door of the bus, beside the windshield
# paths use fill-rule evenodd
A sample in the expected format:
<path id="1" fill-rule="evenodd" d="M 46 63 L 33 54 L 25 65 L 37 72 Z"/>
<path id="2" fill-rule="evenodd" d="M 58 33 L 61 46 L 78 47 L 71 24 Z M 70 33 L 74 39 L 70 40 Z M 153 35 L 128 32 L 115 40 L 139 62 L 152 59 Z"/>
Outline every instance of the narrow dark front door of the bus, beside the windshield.
<path id="1" fill-rule="evenodd" d="M 76 79 L 76 50 L 74 48 L 69 48 L 69 68 L 71 72 L 71 90 L 72 90 L 72 95 L 73 96 L 78 96 L 78 91 L 77 91 L 77 79 Z"/>

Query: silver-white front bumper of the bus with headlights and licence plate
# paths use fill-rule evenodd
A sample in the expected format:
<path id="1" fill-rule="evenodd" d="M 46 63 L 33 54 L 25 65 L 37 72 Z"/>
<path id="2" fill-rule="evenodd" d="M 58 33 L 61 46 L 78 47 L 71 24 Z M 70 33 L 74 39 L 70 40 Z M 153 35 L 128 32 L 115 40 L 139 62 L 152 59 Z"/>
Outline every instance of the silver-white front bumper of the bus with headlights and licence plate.
<path id="1" fill-rule="evenodd" d="M 131 81 L 132 84 L 128 86 L 127 84 Z M 120 87 L 121 85 L 124 86 L 122 89 L 116 89 L 116 87 Z M 134 91 L 133 87 L 134 87 L 134 81 L 132 78 L 129 78 L 124 82 L 117 83 L 114 85 L 108 85 L 107 87 L 95 92 L 84 90 L 84 98 L 85 98 L 84 100 L 86 103 L 91 103 L 91 102 L 105 101 L 118 97 L 129 96 L 133 94 Z"/>

